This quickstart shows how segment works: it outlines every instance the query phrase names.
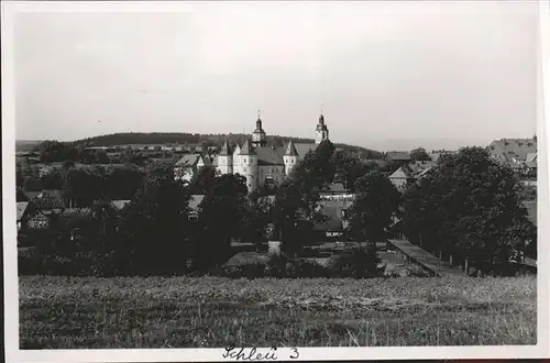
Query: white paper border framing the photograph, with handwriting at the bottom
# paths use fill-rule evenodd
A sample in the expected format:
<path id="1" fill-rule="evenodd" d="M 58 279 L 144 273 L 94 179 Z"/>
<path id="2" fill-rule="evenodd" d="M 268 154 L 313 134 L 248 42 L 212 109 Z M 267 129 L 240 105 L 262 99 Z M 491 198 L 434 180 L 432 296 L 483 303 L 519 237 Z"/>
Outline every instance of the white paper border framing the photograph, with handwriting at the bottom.
<path id="1" fill-rule="evenodd" d="M 250 7 L 273 4 L 271 1 L 241 1 Z M 338 7 L 339 1 L 322 1 L 324 6 Z M 311 2 L 288 2 L 285 6 L 300 7 Z M 19 341 L 19 289 L 16 264 L 15 223 L 15 95 L 13 73 L 13 25 L 18 12 L 158 12 L 195 11 L 198 7 L 231 7 L 231 3 L 215 1 L 2 1 L 2 211 L 3 211 L 3 262 L 4 262 L 4 346 L 8 362 L 184 362 L 223 361 L 224 348 L 216 349 L 99 349 L 99 350 L 20 350 Z M 280 3 L 283 6 L 283 3 Z M 349 6 L 349 4 L 348 4 Z M 292 9 L 289 9 L 292 10 Z M 550 356 L 549 320 L 549 267 L 550 248 L 542 241 L 549 240 L 549 229 L 543 222 L 549 217 L 548 151 L 549 131 L 544 114 L 550 114 L 550 2 L 539 0 L 539 25 L 541 45 L 538 61 L 538 109 L 537 135 L 539 145 L 538 173 L 538 305 L 536 345 L 485 345 L 485 346 L 384 346 L 384 348 L 298 348 L 304 360 L 395 360 L 395 359 L 541 359 Z M 543 59 L 541 62 L 541 59 Z M 544 97 L 546 96 L 546 97 Z M 546 100 L 546 102 L 544 102 Z M 267 349 L 267 348 L 266 348 Z M 286 352 L 285 349 L 279 351 Z M 290 350 L 288 350 L 290 354 Z M 286 354 L 279 355 L 287 360 Z"/>

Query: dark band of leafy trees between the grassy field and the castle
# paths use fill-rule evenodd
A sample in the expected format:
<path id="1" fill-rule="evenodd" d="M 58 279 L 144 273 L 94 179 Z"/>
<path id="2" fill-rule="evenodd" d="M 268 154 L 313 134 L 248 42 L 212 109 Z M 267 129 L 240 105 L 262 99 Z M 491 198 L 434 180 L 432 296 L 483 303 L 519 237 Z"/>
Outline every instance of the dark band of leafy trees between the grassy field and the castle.
<path id="1" fill-rule="evenodd" d="M 375 243 L 392 237 L 396 220 L 402 220 L 413 243 L 444 258 L 452 256 L 466 271 L 507 274 L 510 261 L 536 255 L 537 231 L 520 204 L 518 180 L 486 151 L 469 147 L 444 156 L 426 178 L 411 180 L 404 196 L 378 169 L 355 172 L 362 166 L 352 158 L 326 141 L 276 190 L 251 195 L 240 175 L 206 168 L 182 184 L 172 166 L 157 167 L 139 183 L 136 178 L 134 196 L 122 211 L 112 208 L 107 194 L 98 194 L 89 216 L 57 219 L 47 231 L 28 237 L 25 243 L 35 245 L 40 257 L 21 266 L 28 273 L 68 275 L 208 273 L 231 256 L 235 239 L 258 245 L 280 241 L 284 255 L 293 258 L 318 242 L 314 226 L 327 219 L 319 208 L 321 194 L 339 176 L 355 193 L 346 238 L 370 242 L 338 267 L 340 276 L 350 270 L 355 277 L 378 276 Z M 205 196 L 197 215 L 189 206 L 196 191 Z M 265 198 L 270 193 L 275 195 L 273 202 Z M 268 234 L 267 226 L 273 226 Z M 285 275 L 280 268 L 286 271 L 287 264 L 277 266 L 277 274 Z M 295 273 L 306 268 L 290 267 Z"/>

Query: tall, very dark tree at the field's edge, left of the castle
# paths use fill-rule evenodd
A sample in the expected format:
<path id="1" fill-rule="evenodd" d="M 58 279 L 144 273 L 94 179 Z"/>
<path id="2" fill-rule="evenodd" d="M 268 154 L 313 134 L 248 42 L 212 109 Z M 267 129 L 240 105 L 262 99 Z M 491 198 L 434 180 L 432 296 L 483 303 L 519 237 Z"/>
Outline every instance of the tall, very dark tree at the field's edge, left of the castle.
<path id="1" fill-rule="evenodd" d="M 134 199 L 124 208 L 120 234 L 128 270 L 142 275 L 186 271 L 190 257 L 188 189 L 169 167 L 151 170 Z"/>

